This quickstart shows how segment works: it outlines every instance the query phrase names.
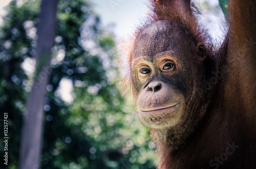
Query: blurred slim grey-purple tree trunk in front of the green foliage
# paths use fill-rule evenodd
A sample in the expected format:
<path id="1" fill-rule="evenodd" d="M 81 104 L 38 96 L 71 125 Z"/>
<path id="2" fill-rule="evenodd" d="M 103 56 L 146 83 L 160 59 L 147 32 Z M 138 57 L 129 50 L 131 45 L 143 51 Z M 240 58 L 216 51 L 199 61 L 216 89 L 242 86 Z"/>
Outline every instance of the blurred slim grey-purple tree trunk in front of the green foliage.
<path id="1" fill-rule="evenodd" d="M 23 117 L 19 168 L 39 168 L 46 86 L 51 74 L 50 60 L 55 35 L 58 0 L 42 0 L 37 27 L 36 70 Z"/>

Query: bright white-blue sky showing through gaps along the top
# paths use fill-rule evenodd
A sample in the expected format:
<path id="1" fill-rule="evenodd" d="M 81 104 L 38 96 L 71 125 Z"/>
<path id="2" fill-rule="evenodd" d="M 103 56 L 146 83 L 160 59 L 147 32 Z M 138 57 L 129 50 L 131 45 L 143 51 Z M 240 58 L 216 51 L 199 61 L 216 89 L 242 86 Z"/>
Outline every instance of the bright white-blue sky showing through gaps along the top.
<path id="1" fill-rule="evenodd" d="M 0 16 L 5 14 L 3 7 L 8 5 L 11 0 L 0 1 Z M 18 2 L 24 0 L 18 0 Z M 218 4 L 218 0 L 207 0 L 210 5 Z M 134 26 L 140 23 L 145 16 L 147 10 L 144 2 L 146 0 L 91 0 L 95 4 L 94 9 L 101 17 L 103 25 L 106 27 L 114 23 L 114 33 L 117 38 L 128 35 L 133 31 Z M 203 0 L 194 0 L 193 2 L 202 3 Z M 220 32 L 218 17 L 213 14 L 208 14 L 204 21 L 208 21 L 206 27 L 209 29 L 210 34 L 219 36 Z M 3 20 L 0 19 L 0 25 Z"/>

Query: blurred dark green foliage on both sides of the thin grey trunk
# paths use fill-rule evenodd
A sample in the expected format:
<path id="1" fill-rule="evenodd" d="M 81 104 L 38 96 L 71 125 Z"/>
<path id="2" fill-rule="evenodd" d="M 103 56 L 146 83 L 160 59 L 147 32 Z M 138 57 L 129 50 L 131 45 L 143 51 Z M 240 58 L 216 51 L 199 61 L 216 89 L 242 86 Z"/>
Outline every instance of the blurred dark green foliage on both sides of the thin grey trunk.
<path id="1" fill-rule="evenodd" d="M 39 1 L 20 7 L 11 2 L 0 32 L 0 111 L 8 113 L 8 168 L 18 165 L 22 116 L 32 84 L 26 63 L 33 63 L 39 6 Z M 85 0 L 58 3 L 41 168 L 155 168 L 155 143 L 117 87 L 114 35 L 111 28 L 103 29 L 92 7 Z M 70 100 L 61 96 L 64 81 L 73 86 Z M 0 168 L 5 167 L 1 162 Z"/>

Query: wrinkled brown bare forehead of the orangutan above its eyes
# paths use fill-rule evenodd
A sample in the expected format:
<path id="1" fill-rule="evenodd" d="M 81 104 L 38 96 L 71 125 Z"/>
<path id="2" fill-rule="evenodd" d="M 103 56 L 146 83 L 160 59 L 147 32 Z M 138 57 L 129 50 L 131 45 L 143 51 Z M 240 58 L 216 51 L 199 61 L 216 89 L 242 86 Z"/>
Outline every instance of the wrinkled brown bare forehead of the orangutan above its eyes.
<path id="1" fill-rule="evenodd" d="M 185 47 L 182 44 L 185 39 L 186 33 L 177 23 L 167 20 L 153 22 L 142 29 L 136 37 L 133 60 L 144 59 L 153 62 L 161 53 L 175 54 L 181 51 L 181 46 Z"/>

